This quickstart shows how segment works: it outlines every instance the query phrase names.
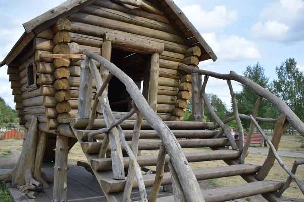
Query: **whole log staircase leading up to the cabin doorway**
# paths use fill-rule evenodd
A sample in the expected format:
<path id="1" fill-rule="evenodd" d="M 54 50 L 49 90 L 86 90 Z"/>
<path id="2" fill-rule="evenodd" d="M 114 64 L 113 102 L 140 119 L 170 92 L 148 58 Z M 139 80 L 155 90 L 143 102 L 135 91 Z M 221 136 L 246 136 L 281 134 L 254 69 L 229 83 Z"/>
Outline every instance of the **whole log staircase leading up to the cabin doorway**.
<path id="1" fill-rule="evenodd" d="M 188 162 L 203 162 L 212 160 L 224 160 L 229 166 L 222 166 L 216 168 L 204 168 L 193 170 L 197 180 L 207 180 L 221 177 L 230 177 L 240 175 L 249 178 L 256 174 L 261 168 L 260 165 L 253 164 L 238 164 L 241 152 L 239 150 L 229 150 L 226 146 L 230 143 L 225 138 L 216 138 L 218 131 L 207 130 L 212 123 L 209 122 L 174 122 L 164 121 L 166 125 L 172 129 L 173 134 L 178 139 L 178 143 L 182 148 L 204 148 L 210 147 L 212 151 L 199 151 L 194 153 L 185 153 Z M 110 201 L 120 201 L 122 199 L 126 180 L 115 180 L 112 174 L 112 159 L 100 158 L 98 154 L 101 148 L 101 142 L 104 134 L 94 136 L 94 142 L 88 142 L 88 134 L 94 129 L 105 128 L 106 124 L 103 119 L 96 119 L 92 129 L 85 130 L 89 123 L 89 119 L 74 119 L 71 122 L 71 127 L 79 143 L 81 144 L 83 152 L 86 154 L 88 162 L 90 163 L 95 176 L 104 192 Z M 126 120 L 120 126 L 122 127 L 128 145 L 131 146 L 131 139 L 135 120 Z M 187 139 L 184 139 L 187 138 Z M 200 138 L 200 139 L 188 139 Z M 143 121 L 142 130 L 140 132 L 139 150 L 158 150 L 161 145 L 161 140 L 157 132 L 151 130 L 149 124 Z M 124 148 L 122 146 L 122 150 Z M 139 166 L 156 166 L 157 155 L 138 156 L 137 162 Z M 168 164 L 169 156 L 166 155 L 165 163 Z M 129 157 L 123 158 L 124 168 L 129 167 Z M 234 165 L 235 164 L 235 165 Z M 115 168 L 114 168 L 115 169 Z M 127 173 L 127 172 L 126 172 Z M 152 187 L 154 184 L 156 174 L 143 175 L 145 187 Z M 164 173 L 161 185 L 169 185 L 172 183 L 171 174 Z M 284 185 L 284 181 L 254 181 L 251 183 L 235 185 L 232 187 L 216 188 L 211 190 L 202 190 L 205 201 L 227 201 L 258 194 L 271 193 L 279 190 Z M 133 189 L 138 188 L 136 180 L 134 180 Z"/>

